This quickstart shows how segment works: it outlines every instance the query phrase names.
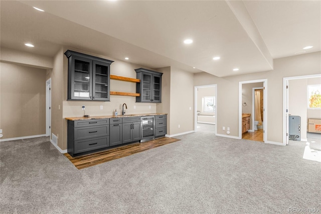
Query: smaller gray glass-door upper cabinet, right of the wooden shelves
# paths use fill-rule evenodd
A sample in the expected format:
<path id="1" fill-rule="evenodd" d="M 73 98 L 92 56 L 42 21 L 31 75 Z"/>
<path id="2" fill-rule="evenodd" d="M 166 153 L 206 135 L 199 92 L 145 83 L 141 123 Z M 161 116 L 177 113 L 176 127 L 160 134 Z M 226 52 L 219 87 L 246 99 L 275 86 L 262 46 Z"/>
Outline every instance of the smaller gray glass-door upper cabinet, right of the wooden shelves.
<path id="1" fill-rule="evenodd" d="M 135 69 L 136 78 L 140 82 L 136 85 L 136 102 L 162 102 L 162 75 L 163 73 L 147 70 L 144 68 Z"/>

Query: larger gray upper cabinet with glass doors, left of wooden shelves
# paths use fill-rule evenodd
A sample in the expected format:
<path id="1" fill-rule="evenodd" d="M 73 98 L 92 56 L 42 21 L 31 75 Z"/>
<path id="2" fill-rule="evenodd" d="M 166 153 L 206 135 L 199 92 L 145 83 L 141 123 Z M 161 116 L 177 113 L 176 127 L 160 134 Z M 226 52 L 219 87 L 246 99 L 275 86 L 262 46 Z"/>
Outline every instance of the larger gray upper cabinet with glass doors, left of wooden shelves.
<path id="1" fill-rule="evenodd" d="M 67 50 L 68 100 L 110 99 L 111 60 Z"/>

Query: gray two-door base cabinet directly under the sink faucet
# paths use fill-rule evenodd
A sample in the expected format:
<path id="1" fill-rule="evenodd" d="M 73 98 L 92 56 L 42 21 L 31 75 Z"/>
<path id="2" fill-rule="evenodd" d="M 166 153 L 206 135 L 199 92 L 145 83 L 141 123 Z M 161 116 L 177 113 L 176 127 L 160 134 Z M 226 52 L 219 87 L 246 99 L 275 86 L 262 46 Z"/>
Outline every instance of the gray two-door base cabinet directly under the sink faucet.
<path id="1" fill-rule="evenodd" d="M 123 118 L 122 143 L 130 143 L 141 139 L 140 117 Z"/>

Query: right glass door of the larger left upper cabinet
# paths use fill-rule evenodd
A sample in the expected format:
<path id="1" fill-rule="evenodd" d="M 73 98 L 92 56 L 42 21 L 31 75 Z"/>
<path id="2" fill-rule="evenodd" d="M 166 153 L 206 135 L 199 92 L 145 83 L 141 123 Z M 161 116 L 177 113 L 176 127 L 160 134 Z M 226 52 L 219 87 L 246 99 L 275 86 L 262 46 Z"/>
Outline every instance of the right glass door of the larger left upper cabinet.
<path id="1" fill-rule="evenodd" d="M 109 100 L 109 65 L 93 61 L 93 99 Z"/>

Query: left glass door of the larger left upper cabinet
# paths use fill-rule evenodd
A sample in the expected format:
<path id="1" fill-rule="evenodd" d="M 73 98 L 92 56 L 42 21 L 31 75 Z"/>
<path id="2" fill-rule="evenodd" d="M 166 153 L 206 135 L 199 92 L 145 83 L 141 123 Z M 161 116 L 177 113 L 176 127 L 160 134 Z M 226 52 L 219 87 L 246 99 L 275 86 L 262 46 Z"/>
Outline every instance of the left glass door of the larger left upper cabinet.
<path id="1" fill-rule="evenodd" d="M 92 97 L 92 62 L 82 58 L 74 58 L 71 69 L 70 98 L 91 99 Z M 69 98 L 69 97 L 68 97 Z"/>

